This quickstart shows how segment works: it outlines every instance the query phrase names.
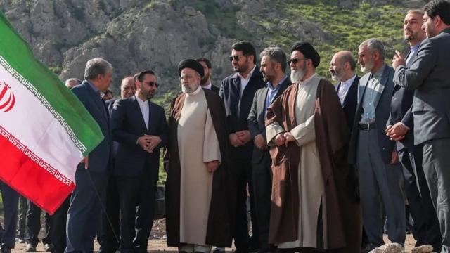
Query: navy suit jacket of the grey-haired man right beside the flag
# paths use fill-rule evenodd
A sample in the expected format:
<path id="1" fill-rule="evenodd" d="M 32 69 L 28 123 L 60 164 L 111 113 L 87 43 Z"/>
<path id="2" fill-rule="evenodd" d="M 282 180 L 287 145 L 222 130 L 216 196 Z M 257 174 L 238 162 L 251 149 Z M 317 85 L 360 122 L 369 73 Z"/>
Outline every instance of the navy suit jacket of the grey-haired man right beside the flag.
<path id="1" fill-rule="evenodd" d="M 84 107 L 96 120 L 103 136 L 105 136 L 103 141 L 89 153 L 89 171 L 105 172 L 110 165 L 110 155 L 113 147 L 108 110 L 101 97 L 92 89 L 86 80 L 73 87 L 72 92 L 75 93 L 75 96 L 78 97 Z M 84 164 L 78 164 L 77 169 L 84 169 Z"/>

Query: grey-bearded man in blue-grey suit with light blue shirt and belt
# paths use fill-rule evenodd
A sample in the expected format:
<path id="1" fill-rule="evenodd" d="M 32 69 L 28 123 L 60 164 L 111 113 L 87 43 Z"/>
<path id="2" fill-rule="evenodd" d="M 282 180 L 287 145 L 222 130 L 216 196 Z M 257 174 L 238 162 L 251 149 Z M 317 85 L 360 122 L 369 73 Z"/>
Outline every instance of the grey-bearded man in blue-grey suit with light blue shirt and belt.
<path id="1" fill-rule="evenodd" d="M 382 203 L 387 214 L 388 238 L 404 245 L 405 204 L 395 143 L 384 132 L 394 92 L 394 70 L 385 64 L 385 48 L 378 39 L 361 43 L 358 56 L 361 70 L 367 74 L 359 79 L 349 162 L 356 164 L 359 172 L 364 230 L 370 242 L 364 251 L 368 252 L 385 243 Z"/>

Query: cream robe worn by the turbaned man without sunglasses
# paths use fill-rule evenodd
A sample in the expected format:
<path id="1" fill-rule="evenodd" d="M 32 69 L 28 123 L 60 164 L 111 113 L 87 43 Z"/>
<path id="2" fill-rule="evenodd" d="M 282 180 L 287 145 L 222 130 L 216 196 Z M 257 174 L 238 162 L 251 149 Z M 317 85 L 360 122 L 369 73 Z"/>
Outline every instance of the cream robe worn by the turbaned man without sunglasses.
<path id="1" fill-rule="evenodd" d="M 221 155 L 200 86 L 186 94 L 177 134 L 181 165 L 180 242 L 205 245 L 213 175 L 205 162 L 221 162 Z"/>

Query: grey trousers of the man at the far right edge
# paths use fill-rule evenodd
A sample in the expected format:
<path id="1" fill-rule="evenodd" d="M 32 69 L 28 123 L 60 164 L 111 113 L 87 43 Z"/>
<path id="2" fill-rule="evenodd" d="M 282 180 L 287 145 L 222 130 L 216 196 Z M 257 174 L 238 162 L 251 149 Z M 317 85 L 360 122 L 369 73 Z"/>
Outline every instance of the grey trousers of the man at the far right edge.
<path id="1" fill-rule="evenodd" d="M 441 252 L 450 252 L 450 138 L 423 143 L 423 171 L 442 233 Z"/>

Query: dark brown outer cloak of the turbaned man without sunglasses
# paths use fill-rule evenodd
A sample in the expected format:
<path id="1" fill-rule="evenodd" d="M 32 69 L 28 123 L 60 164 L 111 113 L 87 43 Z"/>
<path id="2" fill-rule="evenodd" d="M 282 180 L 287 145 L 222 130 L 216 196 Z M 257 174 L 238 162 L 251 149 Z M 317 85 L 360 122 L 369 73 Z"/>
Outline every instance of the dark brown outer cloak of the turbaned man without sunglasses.
<path id="1" fill-rule="evenodd" d="M 212 195 L 209 215 L 207 217 L 207 232 L 204 245 L 219 247 L 231 247 L 233 231 L 234 187 L 231 181 L 231 171 L 227 155 L 226 116 L 224 103 L 213 91 L 203 89 L 210 111 L 212 124 L 219 141 L 221 164 L 212 176 Z M 167 245 L 179 247 L 180 242 L 180 190 L 181 190 L 181 166 L 178 145 L 178 126 L 183 110 L 186 94 L 174 98 L 169 117 L 170 139 L 165 152 L 165 167 L 167 179 L 165 183 L 166 202 L 166 231 Z M 195 231 L 192 231 L 195 233 Z"/>

